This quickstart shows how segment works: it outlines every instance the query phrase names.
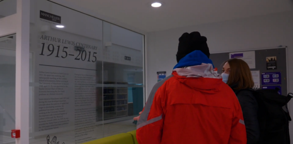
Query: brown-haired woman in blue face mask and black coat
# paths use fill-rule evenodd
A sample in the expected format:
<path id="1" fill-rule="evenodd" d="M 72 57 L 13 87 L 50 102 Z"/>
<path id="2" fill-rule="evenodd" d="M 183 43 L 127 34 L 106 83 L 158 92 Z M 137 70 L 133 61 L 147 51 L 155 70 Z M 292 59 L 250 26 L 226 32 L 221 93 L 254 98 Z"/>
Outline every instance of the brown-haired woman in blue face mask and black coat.
<path id="1" fill-rule="evenodd" d="M 257 100 L 252 92 L 254 82 L 247 63 L 240 59 L 230 59 L 224 63 L 222 70 L 223 82 L 235 92 L 242 108 L 247 133 L 247 144 L 257 144 L 259 124 L 257 120 Z"/>

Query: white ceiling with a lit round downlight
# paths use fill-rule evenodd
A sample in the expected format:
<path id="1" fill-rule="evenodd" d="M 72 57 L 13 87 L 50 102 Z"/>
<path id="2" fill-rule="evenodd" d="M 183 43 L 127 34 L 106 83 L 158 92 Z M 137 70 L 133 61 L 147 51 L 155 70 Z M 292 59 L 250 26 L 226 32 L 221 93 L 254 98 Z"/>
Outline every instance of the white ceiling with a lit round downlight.
<path id="1" fill-rule="evenodd" d="M 292 0 L 162 0 L 159 8 L 150 7 L 156 0 L 66 1 L 146 32 L 293 9 Z"/>

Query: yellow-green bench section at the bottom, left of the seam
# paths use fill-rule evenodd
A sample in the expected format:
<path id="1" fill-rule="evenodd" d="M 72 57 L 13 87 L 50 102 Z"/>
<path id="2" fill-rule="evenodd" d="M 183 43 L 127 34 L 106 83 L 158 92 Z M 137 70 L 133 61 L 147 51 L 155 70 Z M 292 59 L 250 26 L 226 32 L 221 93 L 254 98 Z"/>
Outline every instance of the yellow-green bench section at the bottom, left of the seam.
<path id="1" fill-rule="evenodd" d="M 120 133 L 110 137 L 104 137 L 84 144 L 134 144 L 132 135 L 129 133 Z"/>

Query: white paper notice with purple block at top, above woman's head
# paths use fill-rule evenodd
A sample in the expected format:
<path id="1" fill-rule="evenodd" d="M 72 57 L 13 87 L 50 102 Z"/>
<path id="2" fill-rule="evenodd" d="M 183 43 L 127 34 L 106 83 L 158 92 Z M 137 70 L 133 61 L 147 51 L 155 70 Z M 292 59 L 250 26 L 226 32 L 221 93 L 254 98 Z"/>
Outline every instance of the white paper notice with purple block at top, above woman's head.
<path id="1" fill-rule="evenodd" d="M 237 58 L 244 60 L 250 69 L 255 69 L 255 51 L 231 52 L 229 58 Z"/>

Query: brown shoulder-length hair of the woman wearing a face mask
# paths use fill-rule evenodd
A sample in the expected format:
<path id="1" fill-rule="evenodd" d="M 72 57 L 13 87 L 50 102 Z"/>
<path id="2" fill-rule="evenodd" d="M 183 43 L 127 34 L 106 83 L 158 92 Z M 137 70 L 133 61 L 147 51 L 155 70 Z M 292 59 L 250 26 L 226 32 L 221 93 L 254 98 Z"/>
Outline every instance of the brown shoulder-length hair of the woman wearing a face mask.
<path id="1" fill-rule="evenodd" d="M 238 84 L 234 89 L 251 89 L 254 86 L 252 74 L 247 63 L 241 59 L 227 60 L 230 65 L 230 74 L 227 84 Z M 225 62 L 225 63 L 226 63 Z"/>

